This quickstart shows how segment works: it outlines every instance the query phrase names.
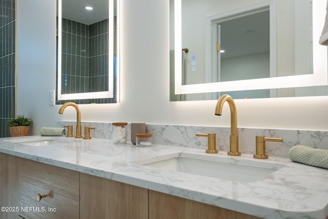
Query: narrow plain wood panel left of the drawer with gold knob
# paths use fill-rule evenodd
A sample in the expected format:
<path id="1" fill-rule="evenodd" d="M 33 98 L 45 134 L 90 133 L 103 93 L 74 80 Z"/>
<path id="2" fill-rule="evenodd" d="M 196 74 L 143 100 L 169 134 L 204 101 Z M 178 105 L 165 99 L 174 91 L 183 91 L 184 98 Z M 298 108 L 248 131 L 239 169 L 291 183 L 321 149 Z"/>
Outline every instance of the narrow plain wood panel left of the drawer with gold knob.
<path id="1" fill-rule="evenodd" d="M 0 153 L 0 207 L 18 206 L 18 163 L 15 156 Z M 17 218 L 18 212 L 0 212 L 0 219 Z"/>

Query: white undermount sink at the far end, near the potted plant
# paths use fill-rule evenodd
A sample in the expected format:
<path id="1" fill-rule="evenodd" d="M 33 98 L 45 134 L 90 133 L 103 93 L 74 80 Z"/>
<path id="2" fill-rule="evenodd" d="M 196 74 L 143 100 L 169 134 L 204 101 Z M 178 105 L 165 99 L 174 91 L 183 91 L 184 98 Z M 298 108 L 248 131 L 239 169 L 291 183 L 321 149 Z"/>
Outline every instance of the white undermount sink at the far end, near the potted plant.
<path id="1" fill-rule="evenodd" d="M 70 139 L 57 139 L 56 137 L 35 137 L 35 138 L 20 138 L 13 140 L 6 140 L 7 142 L 17 143 L 28 146 L 48 146 L 48 145 L 59 145 L 59 144 L 67 144 L 70 142 L 74 142 L 74 140 Z"/>

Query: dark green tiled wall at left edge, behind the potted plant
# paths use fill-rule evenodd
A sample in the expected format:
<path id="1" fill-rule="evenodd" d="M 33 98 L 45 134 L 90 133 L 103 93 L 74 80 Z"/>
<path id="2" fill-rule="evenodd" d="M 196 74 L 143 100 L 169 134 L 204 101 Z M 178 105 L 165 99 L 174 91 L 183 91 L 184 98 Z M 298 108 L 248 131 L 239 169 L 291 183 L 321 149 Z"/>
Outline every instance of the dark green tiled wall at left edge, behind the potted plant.
<path id="1" fill-rule="evenodd" d="M 15 0 L 0 0 L 0 137 L 15 117 Z"/>

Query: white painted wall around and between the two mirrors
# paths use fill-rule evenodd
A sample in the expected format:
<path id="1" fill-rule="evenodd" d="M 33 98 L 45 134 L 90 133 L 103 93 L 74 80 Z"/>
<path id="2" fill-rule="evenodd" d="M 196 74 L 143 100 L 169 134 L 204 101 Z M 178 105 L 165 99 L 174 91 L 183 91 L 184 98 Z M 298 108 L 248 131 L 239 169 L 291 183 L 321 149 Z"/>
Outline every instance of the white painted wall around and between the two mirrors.
<path id="1" fill-rule="evenodd" d="M 32 134 L 74 108 L 49 106 L 55 88 L 55 1 L 17 0 L 17 113 L 34 120 Z M 37 6 L 32 8 L 32 6 Z M 42 10 L 39 10 L 42 8 Z M 230 126 L 228 104 L 169 102 L 169 1 L 121 1 L 121 102 L 80 105 L 82 121 Z M 328 130 L 328 97 L 237 99 L 238 127 Z"/>

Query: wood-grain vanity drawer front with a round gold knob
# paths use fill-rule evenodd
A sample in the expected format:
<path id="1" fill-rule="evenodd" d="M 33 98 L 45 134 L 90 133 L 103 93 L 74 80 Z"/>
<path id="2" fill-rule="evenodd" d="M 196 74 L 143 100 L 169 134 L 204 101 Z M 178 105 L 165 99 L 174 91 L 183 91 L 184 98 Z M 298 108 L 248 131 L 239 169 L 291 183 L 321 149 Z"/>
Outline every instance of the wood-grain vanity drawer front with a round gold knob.
<path id="1" fill-rule="evenodd" d="M 32 218 L 78 218 L 79 173 L 19 159 L 19 215 Z M 40 202 L 37 194 L 47 195 Z"/>

